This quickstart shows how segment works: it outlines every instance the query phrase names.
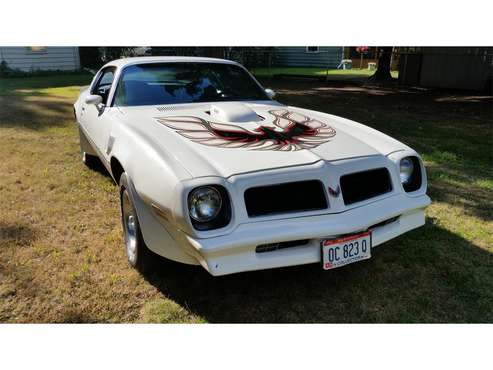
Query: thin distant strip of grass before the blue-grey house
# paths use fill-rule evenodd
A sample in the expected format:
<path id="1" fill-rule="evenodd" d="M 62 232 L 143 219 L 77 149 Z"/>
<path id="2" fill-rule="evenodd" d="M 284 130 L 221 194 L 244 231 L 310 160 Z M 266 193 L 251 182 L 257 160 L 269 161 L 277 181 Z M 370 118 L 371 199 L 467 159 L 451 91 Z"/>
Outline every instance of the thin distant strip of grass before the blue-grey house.
<path id="1" fill-rule="evenodd" d="M 274 68 L 253 68 L 251 72 L 258 77 L 268 77 L 274 75 L 299 75 L 299 76 L 320 76 L 324 77 L 326 75 L 329 78 L 347 78 L 347 77 L 370 77 L 375 71 L 369 69 L 325 69 L 325 68 L 308 68 L 308 67 L 274 67 Z M 397 78 L 399 75 L 398 71 L 392 71 L 392 77 Z"/>

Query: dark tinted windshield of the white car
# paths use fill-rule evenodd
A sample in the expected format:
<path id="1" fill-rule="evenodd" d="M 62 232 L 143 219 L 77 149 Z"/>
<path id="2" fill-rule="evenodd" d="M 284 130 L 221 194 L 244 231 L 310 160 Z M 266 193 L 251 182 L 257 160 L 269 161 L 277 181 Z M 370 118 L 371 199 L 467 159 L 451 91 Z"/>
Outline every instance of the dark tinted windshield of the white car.
<path id="1" fill-rule="evenodd" d="M 118 82 L 115 105 L 160 105 L 269 100 L 243 69 L 222 63 L 150 63 L 129 66 Z"/>

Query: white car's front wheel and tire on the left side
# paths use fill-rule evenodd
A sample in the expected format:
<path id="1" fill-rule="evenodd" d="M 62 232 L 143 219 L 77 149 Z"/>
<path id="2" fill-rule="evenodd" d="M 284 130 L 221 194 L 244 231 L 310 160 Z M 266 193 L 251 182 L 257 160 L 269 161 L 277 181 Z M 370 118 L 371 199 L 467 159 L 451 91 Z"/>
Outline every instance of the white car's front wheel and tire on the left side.
<path id="1" fill-rule="evenodd" d="M 130 266 L 143 272 L 151 266 L 151 251 L 142 237 L 137 212 L 133 204 L 126 173 L 120 176 L 120 211 L 123 242 Z"/>

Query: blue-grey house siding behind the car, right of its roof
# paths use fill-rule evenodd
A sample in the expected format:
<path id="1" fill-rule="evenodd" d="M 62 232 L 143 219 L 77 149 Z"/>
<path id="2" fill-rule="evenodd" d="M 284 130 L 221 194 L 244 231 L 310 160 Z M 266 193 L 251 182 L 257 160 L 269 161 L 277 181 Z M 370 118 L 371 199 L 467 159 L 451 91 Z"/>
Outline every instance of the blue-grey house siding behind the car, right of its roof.
<path id="1" fill-rule="evenodd" d="M 305 46 L 274 49 L 274 64 L 279 67 L 337 68 L 342 59 L 343 47 L 320 46 L 318 53 L 306 52 Z"/>

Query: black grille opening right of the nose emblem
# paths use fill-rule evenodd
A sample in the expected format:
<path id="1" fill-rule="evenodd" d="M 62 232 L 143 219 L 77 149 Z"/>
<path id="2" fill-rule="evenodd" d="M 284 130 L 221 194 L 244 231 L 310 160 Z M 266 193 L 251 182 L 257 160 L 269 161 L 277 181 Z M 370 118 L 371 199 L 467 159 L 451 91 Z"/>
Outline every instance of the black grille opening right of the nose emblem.
<path id="1" fill-rule="evenodd" d="M 344 204 L 353 204 L 392 191 L 392 182 L 386 168 L 351 173 L 341 176 Z"/>

